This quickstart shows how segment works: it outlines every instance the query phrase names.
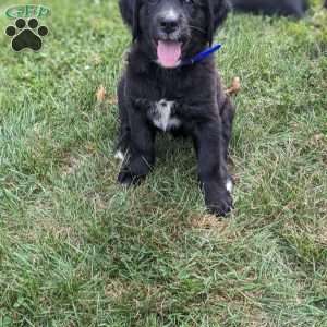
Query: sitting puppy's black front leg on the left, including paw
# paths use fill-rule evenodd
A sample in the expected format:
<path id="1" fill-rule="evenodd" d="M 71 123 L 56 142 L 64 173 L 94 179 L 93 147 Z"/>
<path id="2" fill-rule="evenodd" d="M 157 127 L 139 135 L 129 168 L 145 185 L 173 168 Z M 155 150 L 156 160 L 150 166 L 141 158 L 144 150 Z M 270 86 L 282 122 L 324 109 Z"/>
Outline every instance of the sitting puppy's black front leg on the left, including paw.
<path id="1" fill-rule="evenodd" d="M 129 153 L 118 175 L 121 184 L 138 184 L 155 164 L 155 131 L 144 112 L 131 106 L 129 111 L 131 137 Z"/>

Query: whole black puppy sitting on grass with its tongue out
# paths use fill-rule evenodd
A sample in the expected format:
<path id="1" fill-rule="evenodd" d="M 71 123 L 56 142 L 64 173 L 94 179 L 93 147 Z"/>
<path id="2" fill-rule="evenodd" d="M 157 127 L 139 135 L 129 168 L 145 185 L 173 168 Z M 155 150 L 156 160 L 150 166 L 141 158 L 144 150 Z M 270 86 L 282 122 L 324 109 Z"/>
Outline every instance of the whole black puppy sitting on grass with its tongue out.
<path id="1" fill-rule="evenodd" d="M 123 160 L 118 180 L 137 184 L 155 164 L 158 131 L 193 138 L 198 177 L 209 210 L 231 210 L 227 153 L 233 107 L 225 95 L 214 57 L 192 63 L 207 49 L 229 10 L 226 0 L 120 0 L 133 45 L 119 83 Z"/>

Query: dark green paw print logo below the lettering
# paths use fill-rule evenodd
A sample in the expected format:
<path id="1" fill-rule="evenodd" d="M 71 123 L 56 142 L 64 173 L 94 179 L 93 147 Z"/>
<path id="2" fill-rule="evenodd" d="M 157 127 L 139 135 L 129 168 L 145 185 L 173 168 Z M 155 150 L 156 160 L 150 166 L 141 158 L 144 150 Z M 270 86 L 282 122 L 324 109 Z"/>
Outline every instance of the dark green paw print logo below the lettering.
<path id="1" fill-rule="evenodd" d="M 15 26 L 8 26 L 5 34 L 12 37 L 11 46 L 16 52 L 24 49 L 39 51 L 43 47 L 43 36 L 48 35 L 47 26 L 39 26 L 36 19 L 28 20 L 27 24 L 24 19 L 17 19 Z"/>

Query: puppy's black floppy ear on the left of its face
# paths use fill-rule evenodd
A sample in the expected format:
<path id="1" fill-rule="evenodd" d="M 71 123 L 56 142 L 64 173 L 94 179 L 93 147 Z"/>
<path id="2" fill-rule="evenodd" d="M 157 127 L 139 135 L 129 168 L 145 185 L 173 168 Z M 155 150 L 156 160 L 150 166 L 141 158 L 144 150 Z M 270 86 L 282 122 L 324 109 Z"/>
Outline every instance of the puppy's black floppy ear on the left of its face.
<path id="1" fill-rule="evenodd" d="M 132 28 L 133 40 L 135 40 L 140 34 L 138 12 L 141 0 L 120 0 L 119 8 L 123 21 Z"/>

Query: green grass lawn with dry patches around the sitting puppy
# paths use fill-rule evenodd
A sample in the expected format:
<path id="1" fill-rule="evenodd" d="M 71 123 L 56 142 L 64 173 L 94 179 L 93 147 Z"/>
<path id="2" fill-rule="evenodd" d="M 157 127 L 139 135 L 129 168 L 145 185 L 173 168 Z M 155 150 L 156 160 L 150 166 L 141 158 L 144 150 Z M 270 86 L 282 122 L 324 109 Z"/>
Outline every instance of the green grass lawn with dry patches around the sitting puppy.
<path id="1" fill-rule="evenodd" d="M 117 1 L 43 3 L 41 52 L 0 33 L 0 326 L 327 326 L 327 15 L 231 15 L 217 36 L 243 86 L 219 220 L 190 142 L 162 135 L 146 182 L 116 183 Z"/>

